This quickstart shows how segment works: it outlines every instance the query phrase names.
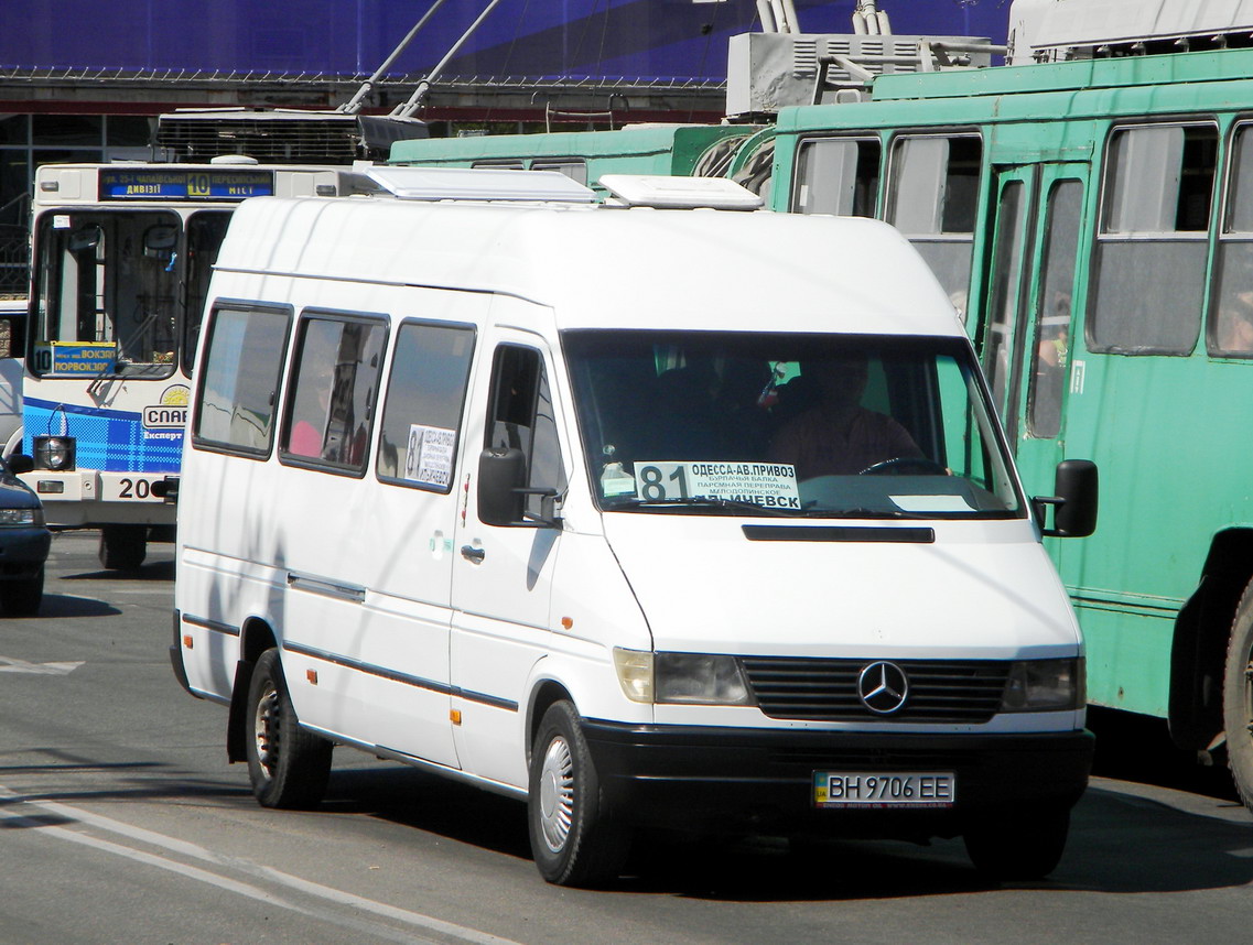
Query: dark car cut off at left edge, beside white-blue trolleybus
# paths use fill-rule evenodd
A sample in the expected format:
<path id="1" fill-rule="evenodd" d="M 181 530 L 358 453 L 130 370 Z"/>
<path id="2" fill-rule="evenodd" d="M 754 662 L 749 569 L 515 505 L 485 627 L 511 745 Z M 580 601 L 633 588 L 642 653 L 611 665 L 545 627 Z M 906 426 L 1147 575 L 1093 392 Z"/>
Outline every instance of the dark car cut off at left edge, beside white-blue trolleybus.
<path id="1" fill-rule="evenodd" d="M 53 542 L 39 496 L 16 476 L 34 466 L 29 456 L 0 459 L 0 606 L 15 617 L 39 612 Z"/>

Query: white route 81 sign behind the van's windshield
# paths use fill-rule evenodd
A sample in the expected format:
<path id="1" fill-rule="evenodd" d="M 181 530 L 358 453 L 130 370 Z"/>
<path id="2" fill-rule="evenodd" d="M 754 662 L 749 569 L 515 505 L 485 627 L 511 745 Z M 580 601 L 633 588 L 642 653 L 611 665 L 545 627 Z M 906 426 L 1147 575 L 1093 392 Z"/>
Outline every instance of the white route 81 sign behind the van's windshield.
<path id="1" fill-rule="evenodd" d="M 637 462 L 635 489 L 644 502 L 717 498 L 801 508 L 791 463 Z"/>

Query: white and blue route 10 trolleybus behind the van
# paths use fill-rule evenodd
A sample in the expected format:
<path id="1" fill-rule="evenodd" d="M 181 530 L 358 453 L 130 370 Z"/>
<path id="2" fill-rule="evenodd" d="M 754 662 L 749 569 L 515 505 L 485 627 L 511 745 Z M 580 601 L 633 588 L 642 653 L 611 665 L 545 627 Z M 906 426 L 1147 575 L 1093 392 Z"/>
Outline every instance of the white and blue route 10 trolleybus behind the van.
<path id="1" fill-rule="evenodd" d="M 105 567 L 170 537 L 153 488 L 178 474 L 200 309 L 232 212 L 249 197 L 340 193 L 348 168 L 41 166 L 23 399 L 24 478 L 48 521 L 99 527 Z"/>

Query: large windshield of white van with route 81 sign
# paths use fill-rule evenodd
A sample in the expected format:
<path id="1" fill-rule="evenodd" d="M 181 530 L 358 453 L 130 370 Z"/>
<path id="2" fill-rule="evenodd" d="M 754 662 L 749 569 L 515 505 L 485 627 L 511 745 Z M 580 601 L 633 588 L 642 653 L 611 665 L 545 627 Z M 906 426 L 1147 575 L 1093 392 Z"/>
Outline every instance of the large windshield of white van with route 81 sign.
<path id="1" fill-rule="evenodd" d="M 563 345 L 604 511 L 1025 514 L 964 339 L 570 330 Z"/>

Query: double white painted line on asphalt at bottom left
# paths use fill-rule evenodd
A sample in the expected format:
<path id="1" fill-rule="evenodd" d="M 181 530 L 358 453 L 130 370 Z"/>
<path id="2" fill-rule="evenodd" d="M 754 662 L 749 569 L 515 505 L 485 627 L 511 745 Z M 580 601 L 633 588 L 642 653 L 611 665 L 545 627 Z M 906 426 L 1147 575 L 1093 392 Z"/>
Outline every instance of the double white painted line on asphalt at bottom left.
<path id="1" fill-rule="evenodd" d="M 346 892 L 343 890 L 333 889 L 331 886 L 323 886 L 318 882 L 312 882 L 309 880 L 302 880 L 299 876 L 292 876 L 289 874 L 276 870 L 271 866 L 263 866 L 261 864 L 234 856 L 226 856 L 224 854 L 218 854 L 212 850 L 207 850 L 202 846 L 197 846 L 195 844 L 187 842 L 185 840 L 177 840 L 175 837 L 170 837 L 164 834 L 157 834 L 152 830 L 145 830 L 144 827 L 137 827 L 130 824 L 125 824 L 123 821 L 101 816 L 99 814 L 91 814 L 90 811 L 85 811 L 79 807 L 70 807 L 64 804 L 56 804 L 54 801 L 29 800 L 11 791 L 10 789 L 4 787 L 3 785 L 0 785 L 0 799 L 4 799 L 10 802 L 16 801 L 24 805 L 30 805 L 33 807 L 48 811 L 49 814 L 55 814 L 63 819 L 79 821 L 81 824 L 94 826 L 99 830 L 104 830 L 112 834 L 118 834 L 129 837 L 130 840 L 142 844 L 149 844 L 152 846 L 168 850 L 170 852 L 179 854 L 182 856 L 203 860 L 216 866 L 237 870 L 239 872 L 243 872 L 244 875 L 251 875 L 257 879 L 264 879 L 277 885 L 303 892 L 308 896 L 322 899 L 341 906 L 351 906 L 353 909 L 360 909 L 362 911 L 372 912 L 378 916 L 385 916 L 387 919 L 403 922 L 405 925 L 416 926 L 419 929 L 425 929 L 430 932 L 435 932 L 441 936 L 456 939 L 457 941 L 472 942 L 474 945 L 519 945 L 519 942 L 515 942 L 510 939 L 501 939 L 500 936 L 491 935 L 489 932 L 481 932 L 476 929 L 470 929 L 464 925 L 446 922 L 441 919 L 435 919 L 434 916 L 424 915 L 421 912 L 413 912 L 407 909 L 390 906 L 386 902 L 377 902 L 371 899 L 365 899 L 363 896 L 357 896 L 352 892 Z M 30 821 L 31 819 L 16 811 L 10 814 L 0 810 L 0 821 L 20 822 L 23 820 Z M 15 826 L 19 825 L 20 824 L 15 824 Z M 208 872 L 205 870 L 199 870 L 194 866 L 188 866 L 185 864 L 179 864 L 174 860 L 169 860 L 163 856 L 157 856 L 154 854 L 148 854 L 142 850 L 135 850 L 129 846 L 122 846 L 118 844 L 109 842 L 107 840 L 99 840 L 86 834 L 80 834 L 78 831 L 70 830 L 64 825 L 33 824 L 31 827 L 35 830 L 50 832 L 51 835 L 58 836 L 63 840 L 71 840 L 74 842 L 84 844 L 86 846 L 93 846 L 105 852 L 112 852 L 118 856 L 125 856 L 128 859 L 148 864 L 150 866 L 158 866 L 164 870 L 170 870 L 173 872 L 188 876 L 189 879 L 195 879 L 202 882 L 209 882 L 212 885 L 219 886 L 238 895 L 249 896 L 252 899 L 259 899 L 264 902 L 282 906 L 284 909 L 291 909 L 303 914 L 309 914 L 309 910 L 306 906 L 274 896 L 269 892 L 266 892 L 264 890 L 257 889 L 256 886 L 249 886 L 237 880 L 232 880 L 226 876 L 219 876 L 218 874 Z M 352 920 L 348 916 L 343 916 L 331 910 L 317 910 L 316 915 L 318 915 L 318 917 L 321 919 L 325 919 L 326 921 L 358 929 L 371 935 L 390 937 L 393 939 L 395 941 L 402 941 L 402 942 L 413 941 L 411 934 L 408 935 L 400 934 L 396 930 L 390 930 L 382 926 L 376 927 L 373 924 L 363 924 L 360 920 Z"/>

